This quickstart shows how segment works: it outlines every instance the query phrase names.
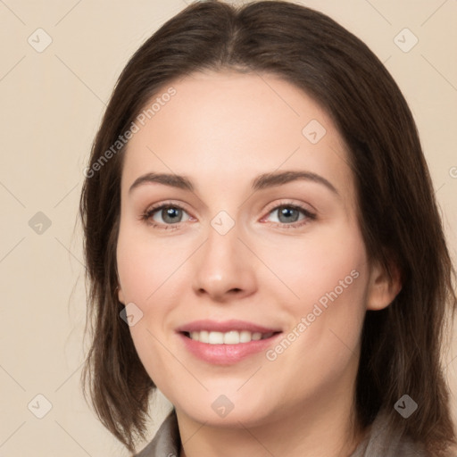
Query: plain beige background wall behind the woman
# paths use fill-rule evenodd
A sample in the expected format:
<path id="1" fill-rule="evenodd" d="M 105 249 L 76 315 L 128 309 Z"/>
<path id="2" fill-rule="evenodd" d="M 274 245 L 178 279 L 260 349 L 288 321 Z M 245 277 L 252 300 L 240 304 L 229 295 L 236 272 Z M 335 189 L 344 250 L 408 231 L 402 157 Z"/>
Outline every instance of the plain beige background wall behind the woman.
<path id="1" fill-rule="evenodd" d="M 457 2 L 302 3 L 361 37 L 402 88 L 418 123 L 455 260 Z M 82 170 L 115 80 L 137 47 L 186 4 L 0 1 L 1 455 L 128 455 L 79 391 L 86 304 L 79 227 L 75 235 L 73 228 Z M 30 37 L 35 47 L 46 44 L 38 28 L 52 38 L 41 53 L 28 42 Z M 413 36 L 402 32 L 395 39 L 404 28 Z M 414 36 L 419 41 L 409 52 L 397 46 L 411 46 Z M 37 212 L 46 214 L 49 228 Z M 455 332 L 445 360 L 457 419 Z M 52 405 L 42 419 L 36 414 L 46 412 L 46 400 L 38 394 Z M 168 408 L 160 398 L 158 405 L 151 436 Z"/>

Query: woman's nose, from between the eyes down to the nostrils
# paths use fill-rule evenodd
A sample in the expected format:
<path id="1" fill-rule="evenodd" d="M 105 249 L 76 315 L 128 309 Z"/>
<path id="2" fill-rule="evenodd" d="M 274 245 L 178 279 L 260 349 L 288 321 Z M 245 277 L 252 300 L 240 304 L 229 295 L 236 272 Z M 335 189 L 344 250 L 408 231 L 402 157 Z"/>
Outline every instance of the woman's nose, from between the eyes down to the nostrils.
<path id="1" fill-rule="evenodd" d="M 193 256 L 196 295 L 225 303 L 255 292 L 255 259 L 239 235 L 237 225 L 225 235 L 210 226 L 206 242 Z"/>

